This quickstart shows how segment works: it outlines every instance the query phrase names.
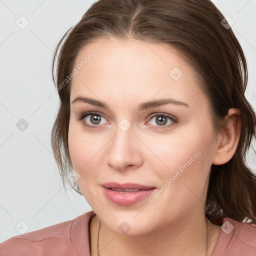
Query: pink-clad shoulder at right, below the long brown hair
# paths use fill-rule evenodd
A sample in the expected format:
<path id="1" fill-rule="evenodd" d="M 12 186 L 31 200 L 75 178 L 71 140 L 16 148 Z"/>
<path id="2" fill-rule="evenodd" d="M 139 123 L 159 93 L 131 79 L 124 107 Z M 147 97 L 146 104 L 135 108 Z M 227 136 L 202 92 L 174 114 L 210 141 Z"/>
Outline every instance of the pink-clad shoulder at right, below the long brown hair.
<path id="1" fill-rule="evenodd" d="M 212 256 L 256 255 L 256 225 L 225 217 Z"/>

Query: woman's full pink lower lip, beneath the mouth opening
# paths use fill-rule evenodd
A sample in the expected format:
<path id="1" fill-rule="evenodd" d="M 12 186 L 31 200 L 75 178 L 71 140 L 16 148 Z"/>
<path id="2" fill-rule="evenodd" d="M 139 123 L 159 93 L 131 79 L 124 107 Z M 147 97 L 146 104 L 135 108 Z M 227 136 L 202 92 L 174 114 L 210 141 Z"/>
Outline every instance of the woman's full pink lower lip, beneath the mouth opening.
<path id="1" fill-rule="evenodd" d="M 150 188 L 135 192 L 120 192 L 103 187 L 103 192 L 106 198 L 108 198 L 111 202 L 120 205 L 130 205 L 149 196 L 155 189 L 156 188 Z"/>

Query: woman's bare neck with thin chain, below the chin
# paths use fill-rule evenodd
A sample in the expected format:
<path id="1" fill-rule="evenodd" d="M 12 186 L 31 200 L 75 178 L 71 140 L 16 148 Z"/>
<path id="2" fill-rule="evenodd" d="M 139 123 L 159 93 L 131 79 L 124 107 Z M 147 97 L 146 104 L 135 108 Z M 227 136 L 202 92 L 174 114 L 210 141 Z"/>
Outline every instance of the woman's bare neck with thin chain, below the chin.
<path id="1" fill-rule="evenodd" d="M 179 219 L 169 225 L 140 235 L 119 234 L 100 221 L 98 236 L 99 256 L 107 255 L 198 255 L 210 256 L 220 234 L 220 226 L 213 225 L 205 216 Z M 91 255 L 97 254 L 99 219 L 91 221 Z"/>

